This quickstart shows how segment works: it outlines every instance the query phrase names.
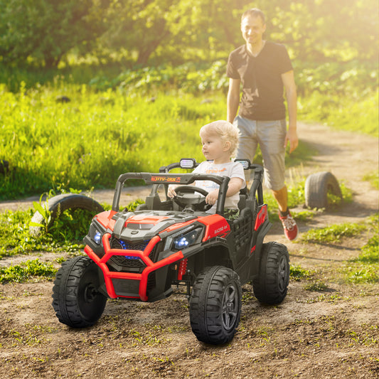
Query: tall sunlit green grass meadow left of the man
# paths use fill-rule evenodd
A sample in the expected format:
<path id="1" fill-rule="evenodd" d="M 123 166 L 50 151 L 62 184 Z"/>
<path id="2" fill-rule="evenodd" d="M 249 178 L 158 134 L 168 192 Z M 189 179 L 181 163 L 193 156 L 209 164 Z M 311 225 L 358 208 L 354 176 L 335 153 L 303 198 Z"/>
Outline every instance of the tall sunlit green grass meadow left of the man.
<path id="1" fill-rule="evenodd" d="M 113 188 L 119 174 L 202 160 L 198 130 L 225 117 L 225 99 L 94 92 L 57 82 L 14 94 L 0 85 L 0 159 L 10 171 L 0 199 L 63 188 Z M 59 95 L 70 102 L 55 102 Z M 58 159 L 59 157 L 59 159 Z"/>

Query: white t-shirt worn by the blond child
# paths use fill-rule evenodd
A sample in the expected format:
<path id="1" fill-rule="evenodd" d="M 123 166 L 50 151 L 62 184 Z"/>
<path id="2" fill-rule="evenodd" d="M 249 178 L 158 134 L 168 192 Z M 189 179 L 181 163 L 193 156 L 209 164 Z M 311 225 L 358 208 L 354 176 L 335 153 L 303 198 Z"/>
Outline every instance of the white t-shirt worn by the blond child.
<path id="1" fill-rule="evenodd" d="M 243 181 L 241 188 L 245 188 L 246 186 L 243 167 L 242 164 L 240 164 L 239 162 L 214 164 L 213 161 L 203 161 L 196 167 L 196 169 L 193 170 L 193 173 L 229 176 L 229 178 L 241 178 Z M 195 186 L 201 187 L 208 192 L 211 192 L 220 187 L 214 181 L 196 181 Z M 225 198 L 225 208 L 238 209 L 238 201 L 240 201 L 240 191 L 235 193 L 233 196 Z M 208 213 L 215 213 L 216 205 L 217 202 L 215 203 L 215 205 L 213 205 L 212 208 L 210 208 L 210 210 L 208 210 Z"/>

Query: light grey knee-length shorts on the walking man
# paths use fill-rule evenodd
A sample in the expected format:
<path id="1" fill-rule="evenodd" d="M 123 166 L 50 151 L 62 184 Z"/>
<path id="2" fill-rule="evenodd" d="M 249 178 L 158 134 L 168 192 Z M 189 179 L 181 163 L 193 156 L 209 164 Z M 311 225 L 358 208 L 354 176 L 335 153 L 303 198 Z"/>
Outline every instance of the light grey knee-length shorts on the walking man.
<path id="1" fill-rule="evenodd" d="M 260 144 L 265 167 L 265 185 L 274 191 L 282 189 L 285 171 L 286 120 L 253 121 L 237 116 L 233 124 L 240 130 L 237 158 L 250 159 L 252 162 L 257 146 Z"/>

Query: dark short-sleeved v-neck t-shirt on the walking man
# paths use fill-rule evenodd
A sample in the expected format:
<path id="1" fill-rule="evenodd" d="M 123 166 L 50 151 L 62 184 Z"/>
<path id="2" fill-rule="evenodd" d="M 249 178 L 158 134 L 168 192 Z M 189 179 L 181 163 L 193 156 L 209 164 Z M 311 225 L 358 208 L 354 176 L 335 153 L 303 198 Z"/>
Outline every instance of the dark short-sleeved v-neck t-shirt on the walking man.
<path id="1" fill-rule="evenodd" d="M 285 119 L 282 74 L 292 69 L 287 49 L 279 43 L 267 41 L 257 57 L 247 53 L 246 45 L 232 51 L 226 75 L 242 82 L 240 116 Z"/>

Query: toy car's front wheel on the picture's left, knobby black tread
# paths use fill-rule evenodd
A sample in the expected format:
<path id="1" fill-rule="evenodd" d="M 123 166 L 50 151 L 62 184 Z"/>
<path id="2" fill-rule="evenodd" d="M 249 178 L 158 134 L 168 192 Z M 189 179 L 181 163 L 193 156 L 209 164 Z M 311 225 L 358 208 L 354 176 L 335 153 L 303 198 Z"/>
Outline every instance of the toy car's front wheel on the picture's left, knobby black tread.
<path id="1" fill-rule="evenodd" d="M 89 257 L 74 257 L 63 262 L 56 274 L 52 295 L 58 320 L 73 328 L 94 325 L 107 303 L 99 287 L 99 270 Z"/>

